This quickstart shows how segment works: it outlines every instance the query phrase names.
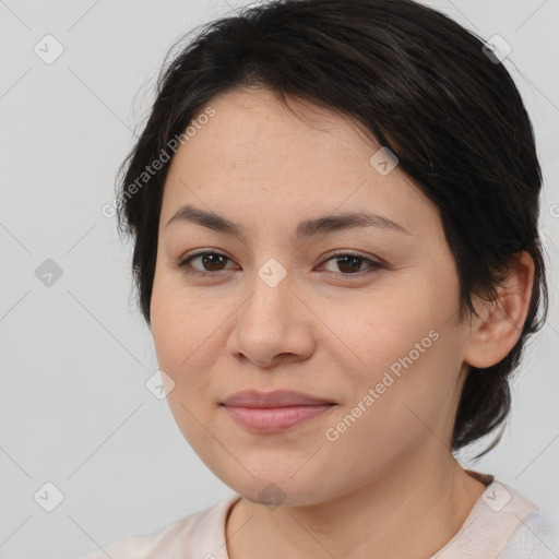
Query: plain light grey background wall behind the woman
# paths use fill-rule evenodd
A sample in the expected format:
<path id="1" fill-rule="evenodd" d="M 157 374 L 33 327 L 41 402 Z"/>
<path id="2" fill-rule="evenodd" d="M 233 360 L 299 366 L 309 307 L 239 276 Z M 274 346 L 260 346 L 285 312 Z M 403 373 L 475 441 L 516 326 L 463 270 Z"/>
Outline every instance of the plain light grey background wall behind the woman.
<path id="1" fill-rule="evenodd" d="M 100 209 L 167 49 L 246 3 L 0 1 L 0 558 L 75 557 L 230 493 L 145 388 L 157 362 L 131 295 L 131 246 Z M 506 66 L 546 178 L 549 320 L 514 382 L 503 440 L 477 463 L 478 447 L 462 457 L 557 514 L 559 1 L 427 3 L 512 46 Z M 34 51 L 47 34 L 64 49 L 50 64 Z M 50 287 L 35 275 L 47 259 L 62 271 Z M 34 499 L 47 481 L 64 496 L 52 512 Z"/>

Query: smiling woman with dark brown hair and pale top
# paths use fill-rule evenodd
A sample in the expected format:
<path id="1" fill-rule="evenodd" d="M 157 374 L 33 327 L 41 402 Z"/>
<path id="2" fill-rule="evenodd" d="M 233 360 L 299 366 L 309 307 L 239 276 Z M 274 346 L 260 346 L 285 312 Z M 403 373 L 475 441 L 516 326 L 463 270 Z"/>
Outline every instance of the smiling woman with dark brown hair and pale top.
<path id="1" fill-rule="evenodd" d="M 235 493 L 88 557 L 550 557 L 550 518 L 454 457 L 547 312 L 493 45 L 409 0 L 293 0 L 168 64 L 120 226 L 174 416 Z"/>

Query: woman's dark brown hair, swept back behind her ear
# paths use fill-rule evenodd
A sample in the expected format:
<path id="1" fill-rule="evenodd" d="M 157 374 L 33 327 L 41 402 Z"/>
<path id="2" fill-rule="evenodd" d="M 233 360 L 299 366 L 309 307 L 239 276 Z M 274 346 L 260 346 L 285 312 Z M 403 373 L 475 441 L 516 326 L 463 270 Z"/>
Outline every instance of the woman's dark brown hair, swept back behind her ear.
<path id="1" fill-rule="evenodd" d="M 276 0 L 204 25 L 166 59 L 147 122 L 119 169 L 119 228 L 134 238 L 133 274 L 147 323 L 170 160 L 142 188 L 138 178 L 214 96 L 263 86 L 286 106 L 300 98 L 346 116 L 397 156 L 439 209 L 460 280 L 461 319 L 466 309 L 477 316 L 473 295 L 493 300 L 507 265 L 530 253 L 535 277 L 522 334 L 500 362 L 471 367 L 452 450 L 503 424 L 509 380 L 528 335 L 545 322 L 548 294 L 532 124 L 512 78 L 484 43 L 411 0 Z"/>

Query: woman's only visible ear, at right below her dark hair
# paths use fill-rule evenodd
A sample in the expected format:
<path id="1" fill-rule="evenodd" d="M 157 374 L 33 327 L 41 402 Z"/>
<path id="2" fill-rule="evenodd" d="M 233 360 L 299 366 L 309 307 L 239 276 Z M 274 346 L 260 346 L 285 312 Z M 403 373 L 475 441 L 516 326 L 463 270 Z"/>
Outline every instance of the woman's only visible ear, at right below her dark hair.
<path id="1" fill-rule="evenodd" d="M 534 283 L 534 261 L 519 252 L 509 269 L 509 277 L 498 288 L 498 299 L 483 301 L 479 318 L 473 317 L 471 337 L 464 360 L 478 369 L 501 361 L 519 341 L 530 308 Z"/>

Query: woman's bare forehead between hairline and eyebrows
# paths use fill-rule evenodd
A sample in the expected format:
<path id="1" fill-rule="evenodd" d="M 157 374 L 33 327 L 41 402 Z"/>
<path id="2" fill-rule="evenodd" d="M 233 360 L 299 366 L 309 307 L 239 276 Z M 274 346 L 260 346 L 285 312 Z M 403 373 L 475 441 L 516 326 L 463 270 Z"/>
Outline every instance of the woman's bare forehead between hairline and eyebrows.
<path id="1" fill-rule="evenodd" d="M 163 217 L 190 202 L 229 215 L 242 206 L 239 221 L 251 212 L 284 212 L 285 219 L 308 217 L 314 209 L 368 210 L 397 215 L 394 221 L 416 230 L 423 218 L 436 217 L 432 203 L 402 170 L 382 176 L 371 166 L 381 146 L 355 122 L 288 100 L 295 114 L 267 90 L 234 90 L 202 107 L 198 115 L 207 107 L 215 114 L 174 156 Z"/>

